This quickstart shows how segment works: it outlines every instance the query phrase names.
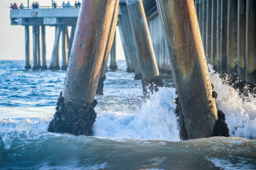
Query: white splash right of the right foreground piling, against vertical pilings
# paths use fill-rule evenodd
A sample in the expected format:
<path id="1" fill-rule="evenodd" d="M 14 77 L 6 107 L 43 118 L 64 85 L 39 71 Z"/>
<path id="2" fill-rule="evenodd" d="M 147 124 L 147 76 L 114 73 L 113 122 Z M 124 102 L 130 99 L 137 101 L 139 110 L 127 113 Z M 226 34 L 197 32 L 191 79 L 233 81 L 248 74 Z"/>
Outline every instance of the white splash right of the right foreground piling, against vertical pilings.
<path id="1" fill-rule="evenodd" d="M 252 94 L 248 97 L 239 96 L 238 91 L 228 86 L 212 66 L 208 65 L 208 67 L 214 91 L 218 94 L 216 99 L 218 109 L 226 115 L 230 136 L 256 139 L 256 98 Z"/>

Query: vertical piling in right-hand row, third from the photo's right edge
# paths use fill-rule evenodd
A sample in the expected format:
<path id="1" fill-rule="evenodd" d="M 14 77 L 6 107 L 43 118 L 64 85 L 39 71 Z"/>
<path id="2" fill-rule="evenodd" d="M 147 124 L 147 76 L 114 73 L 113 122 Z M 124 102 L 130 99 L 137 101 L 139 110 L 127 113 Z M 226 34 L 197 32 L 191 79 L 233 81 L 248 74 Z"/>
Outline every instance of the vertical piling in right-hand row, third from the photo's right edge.
<path id="1" fill-rule="evenodd" d="M 227 74 L 230 76 L 230 84 L 233 84 L 235 81 L 237 81 L 238 75 L 237 5 L 237 0 L 228 0 Z"/>

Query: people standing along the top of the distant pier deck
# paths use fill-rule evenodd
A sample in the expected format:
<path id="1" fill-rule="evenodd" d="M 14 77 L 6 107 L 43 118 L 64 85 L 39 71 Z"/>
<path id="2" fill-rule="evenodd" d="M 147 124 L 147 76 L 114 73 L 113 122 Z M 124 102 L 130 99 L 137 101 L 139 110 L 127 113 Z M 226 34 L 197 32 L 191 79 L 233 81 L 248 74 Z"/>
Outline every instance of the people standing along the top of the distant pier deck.
<path id="1" fill-rule="evenodd" d="M 81 3 L 79 1 L 78 2 L 75 1 L 74 6 L 72 6 L 69 3 L 69 1 L 67 3 L 65 3 L 65 1 L 63 1 L 63 3 L 61 4 L 62 8 L 80 8 L 80 6 L 81 6 Z M 32 3 L 31 7 L 33 9 L 39 8 L 39 3 L 38 2 L 34 2 L 34 3 Z M 13 3 L 13 4 L 10 4 L 10 8 L 12 10 L 24 9 L 24 5 L 23 5 L 23 3 L 21 3 L 20 6 L 18 7 L 18 5 L 16 3 Z M 55 1 L 52 4 L 52 8 L 57 8 L 57 3 Z"/>

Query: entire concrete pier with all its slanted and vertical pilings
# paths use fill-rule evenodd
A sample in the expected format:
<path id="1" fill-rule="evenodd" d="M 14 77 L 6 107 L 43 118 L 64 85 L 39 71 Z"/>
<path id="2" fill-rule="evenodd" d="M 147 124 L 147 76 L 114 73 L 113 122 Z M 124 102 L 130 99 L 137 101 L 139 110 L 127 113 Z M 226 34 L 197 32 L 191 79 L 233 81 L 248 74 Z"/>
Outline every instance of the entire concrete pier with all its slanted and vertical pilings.
<path id="1" fill-rule="evenodd" d="M 118 69 L 119 26 L 127 71 L 142 79 L 146 97 L 164 86 L 160 73 L 172 73 L 181 138 L 186 140 L 228 136 L 207 64 L 228 76 L 234 88 L 244 92 L 247 86 L 255 94 L 255 10 L 254 0 L 83 0 L 80 9 L 11 10 L 10 18 L 12 25 L 25 26 L 26 69 L 31 69 L 28 27 L 33 26 L 34 70 L 47 68 L 45 26 L 56 28 L 48 69 L 69 71 L 50 132 L 92 135 L 95 95 L 103 94 L 109 55 L 110 69 Z M 67 27 L 72 27 L 70 33 Z"/>

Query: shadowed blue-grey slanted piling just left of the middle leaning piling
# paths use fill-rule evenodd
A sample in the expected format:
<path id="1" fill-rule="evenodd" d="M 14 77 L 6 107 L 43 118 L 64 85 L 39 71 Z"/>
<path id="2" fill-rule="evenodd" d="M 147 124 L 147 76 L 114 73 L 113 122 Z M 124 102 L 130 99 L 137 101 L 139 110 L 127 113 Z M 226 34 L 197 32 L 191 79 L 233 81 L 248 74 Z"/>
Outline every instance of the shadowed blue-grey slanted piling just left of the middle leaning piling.
<path id="1" fill-rule="evenodd" d="M 122 17 L 119 17 L 118 20 L 121 26 L 120 30 L 123 32 L 124 41 L 126 42 L 125 46 L 128 51 L 131 72 L 135 73 L 135 80 L 142 79 L 138 49 L 136 45 L 136 40 L 133 35 L 133 30 L 131 27 L 127 6 L 124 4 L 120 4 L 120 11 L 122 13 Z"/>

